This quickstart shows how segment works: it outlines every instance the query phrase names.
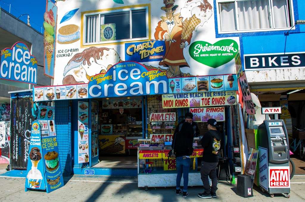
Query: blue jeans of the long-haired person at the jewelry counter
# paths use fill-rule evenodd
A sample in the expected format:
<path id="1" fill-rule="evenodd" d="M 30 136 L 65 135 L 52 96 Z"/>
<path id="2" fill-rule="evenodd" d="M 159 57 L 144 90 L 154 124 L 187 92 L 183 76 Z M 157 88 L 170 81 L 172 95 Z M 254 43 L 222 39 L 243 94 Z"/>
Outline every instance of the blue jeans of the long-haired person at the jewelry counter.
<path id="1" fill-rule="evenodd" d="M 183 159 L 185 158 L 185 159 Z M 177 179 L 176 179 L 176 189 L 180 190 L 181 177 L 183 174 L 183 191 L 188 190 L 188 172 L 190 169 L 190 158 L 177 157 L 176 158 L 176 168 L 177 168 Z"/>

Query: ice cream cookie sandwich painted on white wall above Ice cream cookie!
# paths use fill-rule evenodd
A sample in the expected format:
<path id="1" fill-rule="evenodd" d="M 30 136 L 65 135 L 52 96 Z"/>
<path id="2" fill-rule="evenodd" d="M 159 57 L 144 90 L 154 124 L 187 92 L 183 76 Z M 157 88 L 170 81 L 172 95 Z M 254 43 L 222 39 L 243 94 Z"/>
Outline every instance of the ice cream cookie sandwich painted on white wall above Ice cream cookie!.
<path id="1" fill-rule="evenodd" d="M 58 30 L 57 42 L 59 44 L 71 44 L 78 41 L 80 36 L 81 34 L 77 25 L 65 25 Z"/>

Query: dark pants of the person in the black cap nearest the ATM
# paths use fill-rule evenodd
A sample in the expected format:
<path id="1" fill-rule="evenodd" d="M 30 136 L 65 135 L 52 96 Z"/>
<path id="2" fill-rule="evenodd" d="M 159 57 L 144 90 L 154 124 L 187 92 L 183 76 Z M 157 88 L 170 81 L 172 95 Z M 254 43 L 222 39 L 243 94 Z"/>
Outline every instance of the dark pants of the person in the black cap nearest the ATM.
<path id="1" fill-rule="evenodd" d="M 217 174 L 216 174 L 216 167 L 218 163 L 209 163 L 202 161 L 201 163 L 201 180 L 203 182 L 203 187 L 205 190 L 205 193 L 216 193 L 217 190 Z M 212 186 L 210 186 L 208 176 L 210 176 L 210 179 L 212 180 Z"/>

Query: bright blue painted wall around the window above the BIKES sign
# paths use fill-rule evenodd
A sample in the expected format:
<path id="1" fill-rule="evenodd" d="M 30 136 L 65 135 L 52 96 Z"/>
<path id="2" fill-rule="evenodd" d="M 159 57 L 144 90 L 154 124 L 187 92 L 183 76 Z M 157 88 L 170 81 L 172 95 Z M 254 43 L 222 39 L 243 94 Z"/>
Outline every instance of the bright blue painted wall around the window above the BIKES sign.
<path id="1" fill-rule="evenodd" d="M 214 1 L 215 13 L 217 12 L 216 6 L 216 1 Z M 305 0 L 293 0 L 293 11 L 295 21 L 305 19 Z M 215 16 L 215 30 L 218 33 L 217 16 Z M 288 36 L 285 36 L 285 32 L 287 30 L 216 34 L 216 37 L 239 37 L 242 66 L 244 66 L 244 54 L 305 51 L 305 25 L 296 25 L 295 30 L 291 30 Z"/>

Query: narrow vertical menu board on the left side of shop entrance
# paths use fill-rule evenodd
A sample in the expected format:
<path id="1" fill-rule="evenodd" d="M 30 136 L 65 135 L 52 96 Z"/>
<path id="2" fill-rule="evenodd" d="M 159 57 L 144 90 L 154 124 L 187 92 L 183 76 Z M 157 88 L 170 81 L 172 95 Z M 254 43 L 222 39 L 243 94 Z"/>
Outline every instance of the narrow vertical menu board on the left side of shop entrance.
<path id="1" fill-rule="evenodd" d="M 78 163 L 89 162 L 89 103 L 78 102 Z"/>

